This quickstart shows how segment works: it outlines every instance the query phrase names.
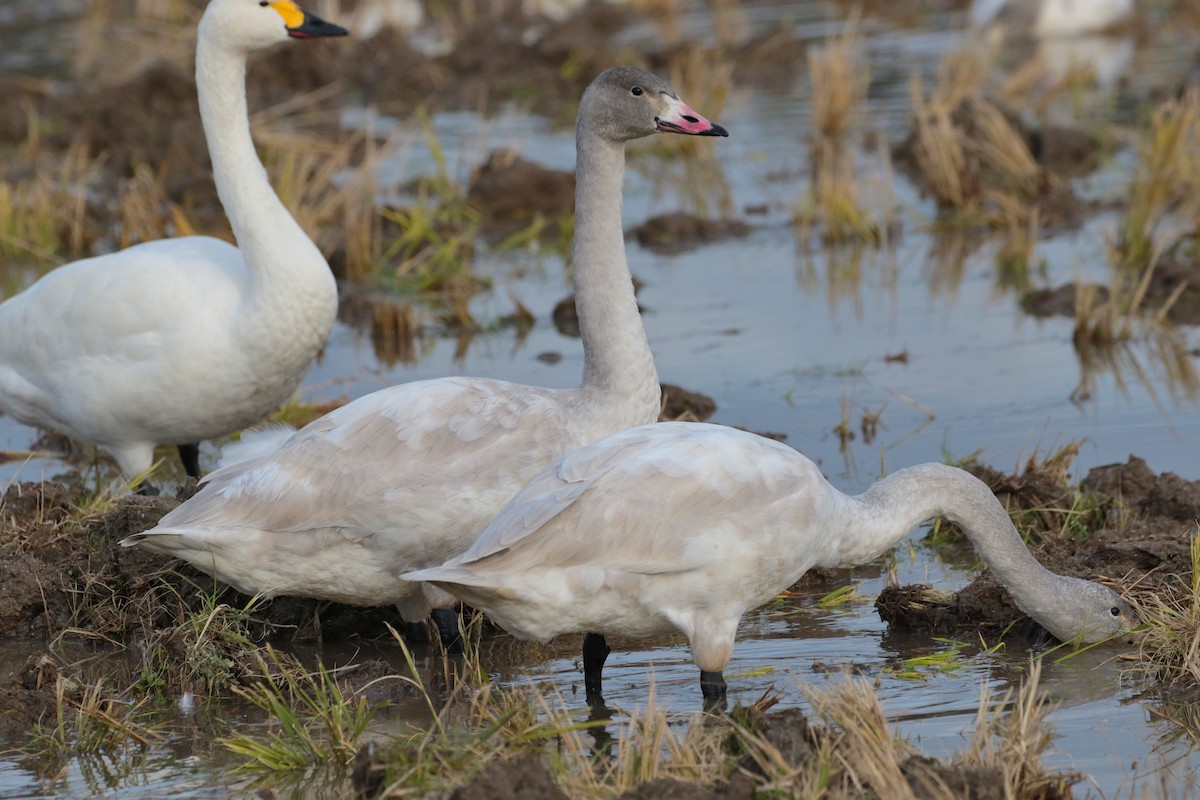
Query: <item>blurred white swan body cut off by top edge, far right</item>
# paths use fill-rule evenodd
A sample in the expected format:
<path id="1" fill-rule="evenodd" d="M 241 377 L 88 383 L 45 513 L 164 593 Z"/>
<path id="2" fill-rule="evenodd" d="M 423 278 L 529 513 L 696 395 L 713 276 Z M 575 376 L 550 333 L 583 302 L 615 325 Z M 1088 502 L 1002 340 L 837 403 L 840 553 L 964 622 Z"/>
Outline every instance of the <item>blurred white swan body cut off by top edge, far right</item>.
<path id="1" fill-rule="evenodd" d="M 974 0 L 973 28 L 1000 24 L 1018 36 L 1098 34 L 1133 14 L 1133 0 Z"/>

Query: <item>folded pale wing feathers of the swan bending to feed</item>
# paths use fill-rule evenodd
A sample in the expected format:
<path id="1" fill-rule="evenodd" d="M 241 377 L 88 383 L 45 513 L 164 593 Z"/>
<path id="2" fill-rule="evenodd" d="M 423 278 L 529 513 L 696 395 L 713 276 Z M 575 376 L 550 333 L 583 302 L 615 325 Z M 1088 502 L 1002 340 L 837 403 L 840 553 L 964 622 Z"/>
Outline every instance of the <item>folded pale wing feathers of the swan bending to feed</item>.
<path id="1" fill-rule="evenodd" d="M 580 447 L 539 473 L 475 545 L 443 569 L 404 577 L 587 565 L 654 575 L 707 569 L 750 513 L 810 492 L 798 452 L 722 426 L 655 423 Z M 672 513 L 664 516 L 662 507 Z M 745 546 L 742 542 L 739 546 Z"/>

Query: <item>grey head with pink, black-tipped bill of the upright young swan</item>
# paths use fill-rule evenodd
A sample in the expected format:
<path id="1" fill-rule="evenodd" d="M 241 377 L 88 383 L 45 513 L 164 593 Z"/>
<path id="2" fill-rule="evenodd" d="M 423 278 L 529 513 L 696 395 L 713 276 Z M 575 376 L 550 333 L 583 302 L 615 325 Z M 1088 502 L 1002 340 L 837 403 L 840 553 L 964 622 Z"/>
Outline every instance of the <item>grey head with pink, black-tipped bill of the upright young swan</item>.
<path id="1" fill-rule="evenodd" d="M 679 100 L 666 80 L 636 67 L 601 72 L 583 92 L 578 124 L 613 142 L 656 132 L 728 136 Z"/>

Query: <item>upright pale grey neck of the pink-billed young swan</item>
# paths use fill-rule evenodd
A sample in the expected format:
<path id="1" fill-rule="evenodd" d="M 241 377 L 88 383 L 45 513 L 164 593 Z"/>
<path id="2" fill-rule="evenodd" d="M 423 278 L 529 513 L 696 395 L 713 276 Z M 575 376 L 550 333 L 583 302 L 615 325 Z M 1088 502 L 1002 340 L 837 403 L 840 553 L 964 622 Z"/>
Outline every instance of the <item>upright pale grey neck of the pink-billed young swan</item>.
<path id="1" fill-rule="evenodd" d="M 575 303 L 583 391 L 629 409 L 630 426 L 658 419 L 659 375 L 637 312 L 620 219 L 624 144 L 576 128 Z M 650 415 L 646 409 L 653 408 Z"/>

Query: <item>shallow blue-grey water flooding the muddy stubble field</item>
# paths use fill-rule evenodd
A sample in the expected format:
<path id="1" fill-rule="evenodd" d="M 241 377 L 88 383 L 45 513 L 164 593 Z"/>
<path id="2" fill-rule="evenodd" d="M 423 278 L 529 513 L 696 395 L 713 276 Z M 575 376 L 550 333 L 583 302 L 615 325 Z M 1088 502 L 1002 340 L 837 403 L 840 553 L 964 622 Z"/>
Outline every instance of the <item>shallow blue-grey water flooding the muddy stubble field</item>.
<path id="1" fill-rule="evenodd" d="M 748 8 L 751 26 L 785 16 L 814 38 L 834 19 L 824 4 Z M 696 35 L 709 35 L 702 11 L 685 22 Z M 918 26 L 908 20 L 865 20 L 874 71 L 871 130 L 893 140 L 904 136 L 908 76 L 914 70 L 931 74 L 936 59 L 962 41 L 961 24 L 955 14 L 930 14 Z M 7 18 L 0 16 L 0 44 L 12 37 L 6 25 Z M 60 26 L 54 20 L 47 30 Z M 637 42 L 654 31 L 635 26 L 624 36 Z M 1200 42 L 1180 31 L 1159 31 L 1159 37 L 1141 46 L 1128 40 L 1100 42 L 1105 65 L 1111 67 L 1114 53 L 1127 53 L 1129 62 L 1120 72 L 1126 76 L 1121 98 L 1100 97 L 1084 109 L 1085 116 L 1132 119 L 1136 103 L 1128 100 L 1130 95 L 1171 86 L 1186 74 L 1188 54 Z M 5 67 L 26 68 L 17 56 L 8 56 Z M 895 176 L 892 188 L 902 228 L 890 248 L 828 249 L 798 240 L 787 209 L 806 185 L 808 91 L 802 80 L 786 96 L 752 89 L 731 94 L 721 113 L 710 114 L 730 128 L 731 138 L 704 145 L 719 155 L 719 169 L 689 162 L 694 172 L 688 173 L 680 162 L 661 162 L 644 146 L 631 149 L 625 192 L 630 227 L 676 209 L 743 216 L 755 225 L 745 239 L 680 255 L 656 255 L 629 243 L 632 272 L 646 283 L 640 301 L 665 381 L 710 395 L 718 403 L 716 422 L 786 434 L 788 444 L 846 491 L 859 491 L 900 467 L 976 451 L 997 468 L 1010 469 L 1034 452 L 1078 439 L 1085 445 L 1075 462 L 1076 476 L 1135 453 L 1157 471 L 1200 477 L 1196 403 L 1170 383 L 1151 349 L 1134 344 L 1122 368 L 1085 374 L 1072 345 L 1073 321 L 1026 317 L 1018 296 L 1004 288 L 994 264 L 1000 239 L 931 233 L 934 205 L 902 175 Z M 370 115 L 366 109 L 347 109 L 347 127 L 364 125 Z M 437 115 L 433 125 L 460 178 L 488 150 L 505 144 L 551 167 L 570 168 L 574 162 L 570 131 L 551 130 L 544 120 L 516 112 L 496 120 L 448 113 Z M 420 137 L 404 152 L 384 170 L 397 186 L 408 175 L 430 170 Z M 1129 154 L 1122 152 L 1084 179 L 1079 192 L 1098 199 L 1120 197 L 1130 163 Z M 863 167 L 866 182 L 880 162 L 865 155 Z M 766 215 L 742 213 L 762 204 L 769 206 Z M 1099 213 L 1079 230 L 1044 236 L 1037 253 L 1045 260 L 1045 272 L 1034 277 L 1034 284 L 1103 281 L 1114 225 L 1115 216 Z M 530 263 L 534 269 L 528 269 Z M 367 333 L 340 323 L 305 381 L 305 396 L 354 397 L 392 383 L 448 374 L 547 386 L 577 383 L 580 343 L 559 335 L 550 321 L 553 305 L 569 291 L 560 260 L 485 255 L 478 270 L 494 277 L 496 288 L 474 301 L 476 319 L 509 313 L 511 290 L 538 315 L 524 338 L 500 331 L 478 335 L 466 347 L 451 338 L 427 338 L 418 363 L 389 366 L 380 362 Z M 11 272 L 5 285 L 23 285 L 37 270 Z M 1200 347 L 1196 330 L 1184 329 L 1183 335 L 1189 348 Z M 545 363 L 536 356 L 546 351 L 564 357 Z M 884 360 L 901 351 L 908 354 L 906 362 Z M 1081 381 L 1088 381 L 1090 398 L 1073 402 Z M 834 428 L 844 404 L 856 431 L 864 409 L 881 411 L 874 440 L 860 432 L 848 443 L 839 439 Z M 36 435 L 0 419 L 0 449 L 25 450 Z M 206 445 L 205 457 L 211 461 L 215 455 L 215 446 Z M 54 459 L 11 462 L 0 465 L 0 482 L 52 477 L 65 469 Z M 905 582 L 958 588 L 967 581 L 962 565 L 946 564 L 922 546 L 904 545 L 894 558 Z M 880 570 L 864 567 L 854 582 L 859 594 L 874 596 L 882 585 Z M 889 633 L 869 602 L 836 609 L 821 609 L 811 601 L 787 609 L 772 607 L 743 621 L 728 668 L 731 699 L 749 702 L 772 688 L 785 704 L 803 704 L 799 682 L 840 679 L 814 672 L 814 662 L 853 662 L 865 667 L 870 679 L 877 678 L 884 709 L 902 735 L 926 753 L 949 754 L 967 744 L 980 688 L 1002 693 L 1014 686 L 1027 651 L 1013 646 L 965 656 L 956 670 L 924 669 L 920 680 L 894 673 L 904 658 L 947 646 L 928 637 Z M 584 715 L 582 693 L 572 693 L 581 681 L 577 654 L 565 646 L 550 651 L 551 657 L 532 663 L 497 662 L 494 674 L 505 681 L 548 681 Z M 1170 726 L 1152 718 L 1134 688 L 1122 686 L 1114 655 L 1100 650 L 1045 664 L 1043 688 L 1060 704 L 1051 716 L 1057 739 L 1049 764 L 1091 776 L 1091 790 L 1104 796 L 1133 796 L 1142 788 L 1158 796 L 1164 780 L 1170 796 L 1188 796 L 1200 762 L 1188 741 L 1172 739 Z M 606 668 L 610 704 L 644 704 L 648 673 L 660 705 L 680 714 L 698 705 L 695 668 L 678 642 L 616 646 Z M 115 778 L 112 790 L 120 796 L 190 798 L 239 790 L 242 784 L 224 775 L 228 758 L 203 744 L 203 727 L 191 734 L 187 726 L 180 729 L 184 744 L 152 748 L 132 774 Z M 0 748 L 5 745 L 0 742 Z M 52 790 L 52 796 L 102 792 L 88 788 L 79 764 L 72 770 L 66 786 Z M 1087 784 L 1080 787 L 1081 794 L 1087 790 Z M 0 758 L 0 796 L 42 796 L 41 792 L 30 772 Z"/>

